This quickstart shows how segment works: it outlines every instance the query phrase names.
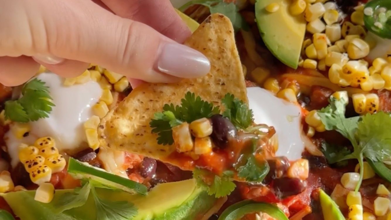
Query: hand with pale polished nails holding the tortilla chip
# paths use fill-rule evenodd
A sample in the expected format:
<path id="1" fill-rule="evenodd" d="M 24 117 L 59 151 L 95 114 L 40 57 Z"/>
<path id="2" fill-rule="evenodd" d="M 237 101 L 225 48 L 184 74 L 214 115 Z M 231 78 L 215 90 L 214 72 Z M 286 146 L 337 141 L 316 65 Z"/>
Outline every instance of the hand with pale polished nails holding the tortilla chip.
<path id="1" fill-rule="evenodd" d="M 97 63 L 138 79 L 131 83 L 176 82 L 210 70 L 204 55 L 175 42 L 191 33 L 169 0 L 0 0 L 0 5 L 0 82 L 6 86 L 26 82 L 39 64 L 75 77 Z"/>

